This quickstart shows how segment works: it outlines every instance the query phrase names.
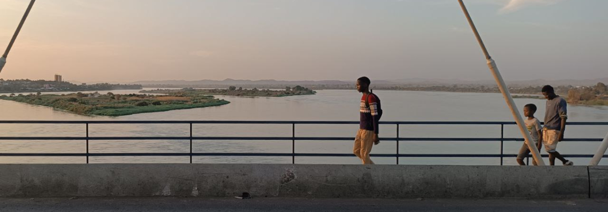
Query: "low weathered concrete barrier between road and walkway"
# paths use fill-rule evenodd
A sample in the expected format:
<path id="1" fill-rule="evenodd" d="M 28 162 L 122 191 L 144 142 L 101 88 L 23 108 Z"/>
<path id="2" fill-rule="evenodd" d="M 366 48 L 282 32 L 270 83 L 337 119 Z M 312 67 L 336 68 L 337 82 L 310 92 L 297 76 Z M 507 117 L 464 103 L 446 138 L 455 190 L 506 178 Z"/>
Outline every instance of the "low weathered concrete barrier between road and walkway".
<path id="1" fill-rule="evenodd" d="M 0 164 L 0 197 L 606 197 L 607 167 Z"/>

